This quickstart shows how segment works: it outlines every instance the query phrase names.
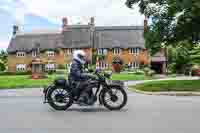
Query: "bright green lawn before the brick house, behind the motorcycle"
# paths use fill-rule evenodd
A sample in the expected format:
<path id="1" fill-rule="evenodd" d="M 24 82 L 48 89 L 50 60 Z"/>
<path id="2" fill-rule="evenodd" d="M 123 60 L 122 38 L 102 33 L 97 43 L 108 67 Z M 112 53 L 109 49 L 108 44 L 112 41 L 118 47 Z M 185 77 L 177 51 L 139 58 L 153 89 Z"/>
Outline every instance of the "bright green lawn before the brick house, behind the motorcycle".
<path id="1" fill-rule="evenodd" d="M 67 77 L 67 76 L 66 76 Z M 56 78 L 55 75 L 46 79 L 33 80 L 29 75 L 0 76 L 0 89 L 7 88 L 34 88 L 50 84 Z M 149 79 L 144 75 L 134 74 L 113 74 L 112 80 L 144 80 Z"/>

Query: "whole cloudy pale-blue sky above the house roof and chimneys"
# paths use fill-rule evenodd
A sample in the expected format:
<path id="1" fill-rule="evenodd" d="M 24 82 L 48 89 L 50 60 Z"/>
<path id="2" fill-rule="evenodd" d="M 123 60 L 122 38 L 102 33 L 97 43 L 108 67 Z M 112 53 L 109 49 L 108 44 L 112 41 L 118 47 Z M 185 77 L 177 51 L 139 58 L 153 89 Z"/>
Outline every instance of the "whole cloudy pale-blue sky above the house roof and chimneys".
<path id="1" fill-rule="evenodd" d="M 143 25 L 144 16 L 125 6 L 126 0 L 0 0 L 0 49 L 6 49 L 12 26 L 20 31 L 61 28 L 62 18 L 69 24 L 88 24 L 95 17 L 97 26 Z"/>

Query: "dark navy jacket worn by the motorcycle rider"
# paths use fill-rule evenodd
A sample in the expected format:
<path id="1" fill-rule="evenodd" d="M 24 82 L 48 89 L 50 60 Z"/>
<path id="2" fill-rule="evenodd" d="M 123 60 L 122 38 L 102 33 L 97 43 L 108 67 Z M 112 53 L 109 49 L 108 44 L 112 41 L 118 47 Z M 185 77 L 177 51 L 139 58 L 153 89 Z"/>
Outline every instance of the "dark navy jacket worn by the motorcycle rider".
<path id="1" fill-rule="evenodd" d="M 71 81 L 87 80 L 89 75 L 84 73 L 83 65 L 78 60 L 73 60 L 70 68 L 69 79 Z"/>

